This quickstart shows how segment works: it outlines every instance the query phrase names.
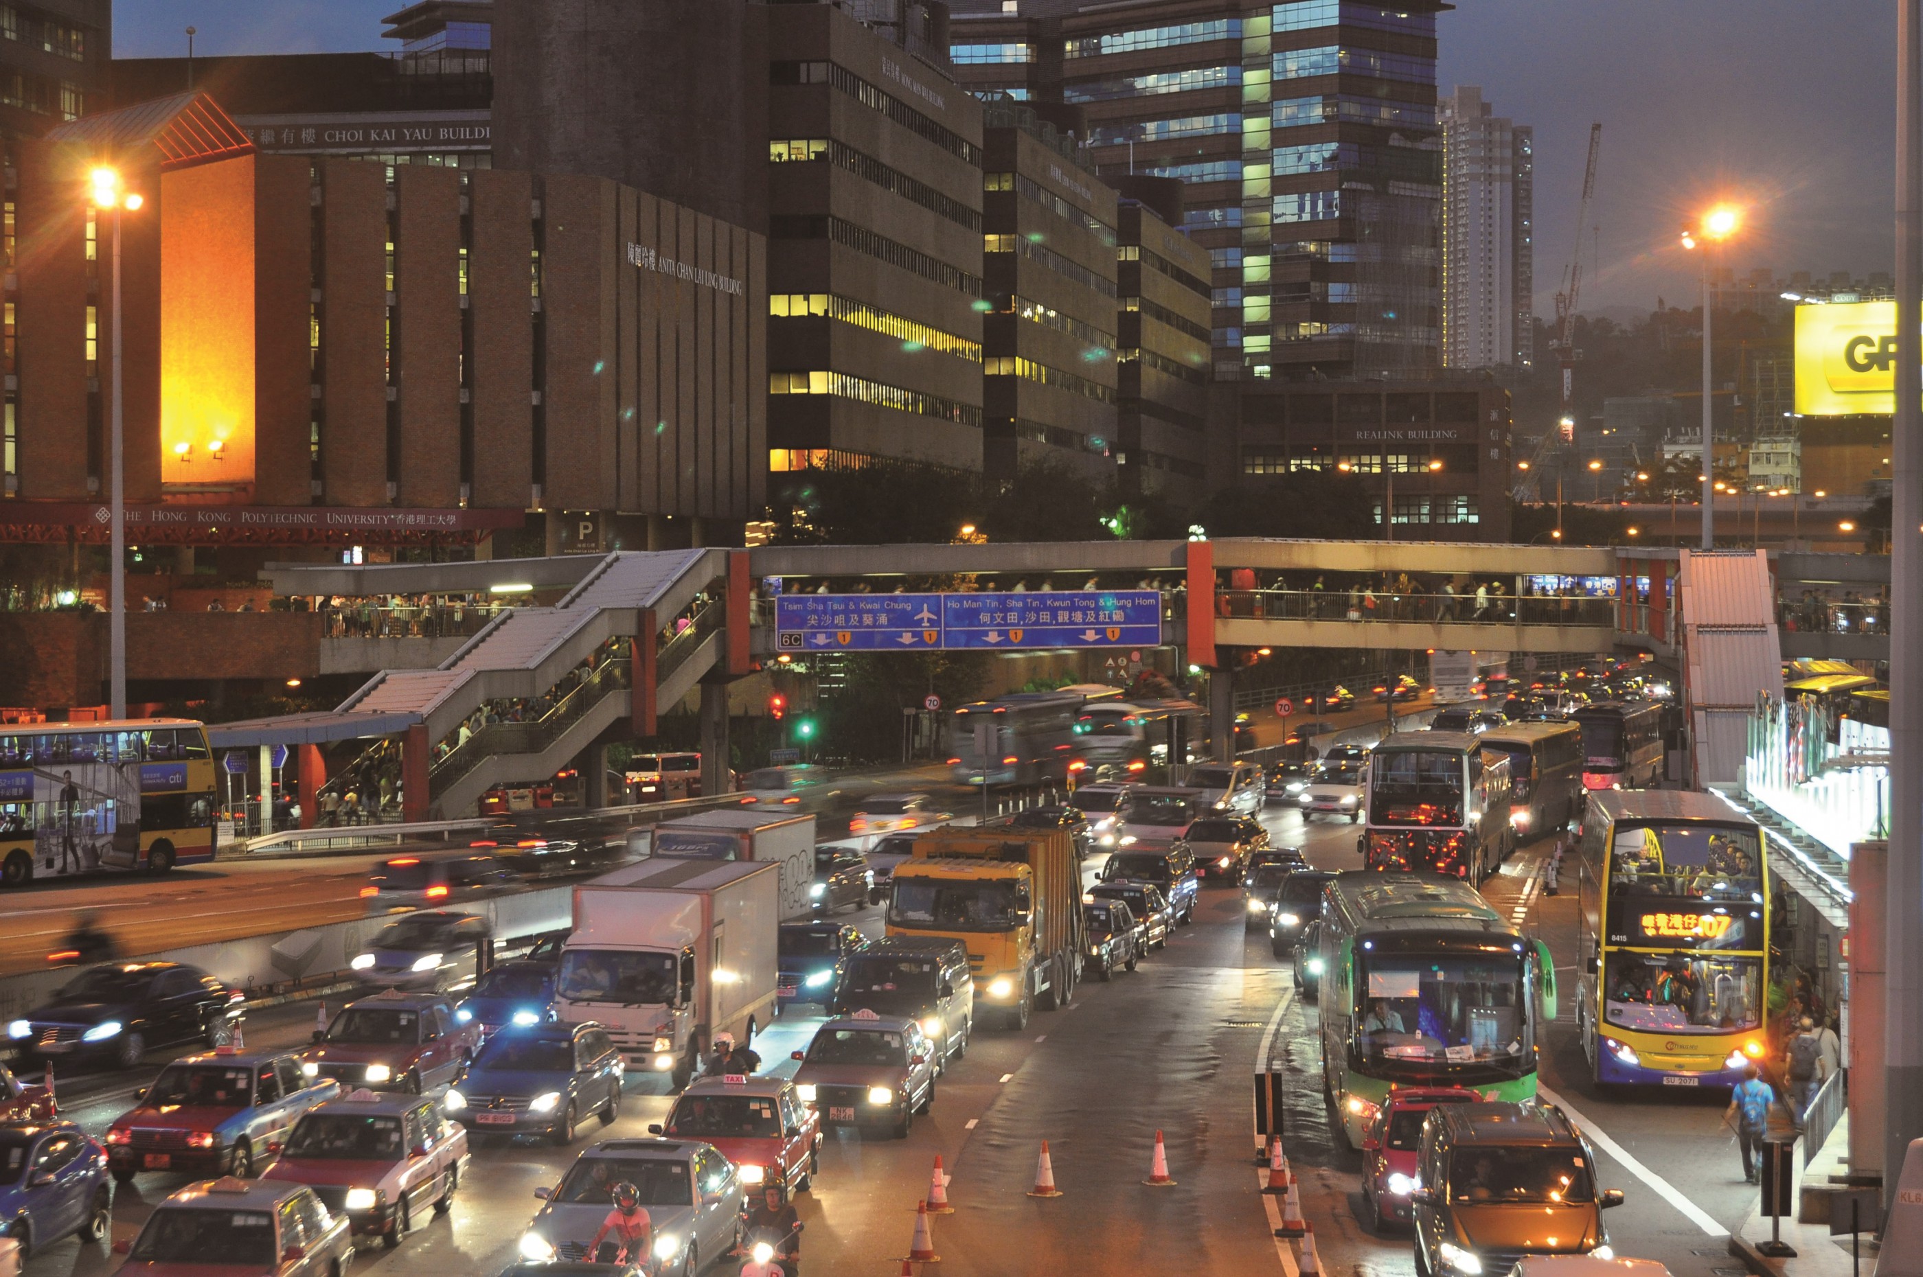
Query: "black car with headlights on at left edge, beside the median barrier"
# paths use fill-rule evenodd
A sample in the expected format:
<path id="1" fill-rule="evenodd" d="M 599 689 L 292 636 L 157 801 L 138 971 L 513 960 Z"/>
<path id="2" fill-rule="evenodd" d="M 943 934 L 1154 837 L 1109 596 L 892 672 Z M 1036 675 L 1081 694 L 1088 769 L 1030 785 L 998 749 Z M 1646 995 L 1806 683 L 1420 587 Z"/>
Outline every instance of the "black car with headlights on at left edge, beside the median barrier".
<path id="1" fill-rule="evenodd" d="M 21 1064 L 140 1064 L 150 1046 L 233 1040 L 244 994 L 179 962 L 115 962 L 75 975 L 48 1002 L 10 1021 Z"/>

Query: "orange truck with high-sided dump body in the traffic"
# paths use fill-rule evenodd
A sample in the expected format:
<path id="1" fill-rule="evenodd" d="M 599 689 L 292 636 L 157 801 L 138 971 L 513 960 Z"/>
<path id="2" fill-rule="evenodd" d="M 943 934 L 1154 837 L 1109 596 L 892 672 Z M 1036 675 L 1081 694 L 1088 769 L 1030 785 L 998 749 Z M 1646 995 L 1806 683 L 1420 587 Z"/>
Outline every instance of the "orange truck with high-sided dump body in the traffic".
<path id="1" fill-rule="evenodd" d="M 1011 1029 L 1065 1006 L 1085 948 L 1081 862 L 1063 829 L 931 829 L 896 865 L 888 935 L 967 946 L 977 1012 Z"/>

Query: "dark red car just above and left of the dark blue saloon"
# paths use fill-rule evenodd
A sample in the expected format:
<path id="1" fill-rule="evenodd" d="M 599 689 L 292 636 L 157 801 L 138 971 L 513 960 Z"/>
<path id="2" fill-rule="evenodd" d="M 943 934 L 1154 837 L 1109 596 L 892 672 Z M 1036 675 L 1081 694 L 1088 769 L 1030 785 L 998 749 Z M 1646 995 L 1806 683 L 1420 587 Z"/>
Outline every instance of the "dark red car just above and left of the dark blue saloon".
<path id="1" fill-rule="evenodd" d="M 446 998 L 388 989 L 348 1002 L 300 1054 L 306 1077 L 342 1087 L 421 1094 L 454 1081 L 481 1050 L 481 1025 L 462 1021 Z"/>

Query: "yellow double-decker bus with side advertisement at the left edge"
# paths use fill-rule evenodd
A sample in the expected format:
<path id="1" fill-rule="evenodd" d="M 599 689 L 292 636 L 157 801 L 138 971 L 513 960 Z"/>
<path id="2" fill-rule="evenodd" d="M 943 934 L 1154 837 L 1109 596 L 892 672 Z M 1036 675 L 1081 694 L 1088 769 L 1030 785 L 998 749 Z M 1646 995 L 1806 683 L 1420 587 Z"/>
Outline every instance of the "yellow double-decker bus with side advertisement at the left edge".
<path id="1" fill-rule="evenodd" d="M 213 860 L 213 752 L 188 719 L 0 729 L 0 883 Z"/>

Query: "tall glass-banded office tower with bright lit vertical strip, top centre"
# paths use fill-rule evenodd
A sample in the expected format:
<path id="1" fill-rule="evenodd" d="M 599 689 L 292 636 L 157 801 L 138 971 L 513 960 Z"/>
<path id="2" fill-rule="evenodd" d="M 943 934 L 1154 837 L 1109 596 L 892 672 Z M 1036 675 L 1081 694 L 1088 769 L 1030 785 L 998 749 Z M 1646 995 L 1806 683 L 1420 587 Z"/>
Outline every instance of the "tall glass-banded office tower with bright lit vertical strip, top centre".
<path id="1" fill-rule="evenodd" d="M 1427 377 L 1442 8 L 956 0 L 950 56 L 971 88 L 1083 106 L 1098 173 L 1188 185 L 1219 377 Z"/>

